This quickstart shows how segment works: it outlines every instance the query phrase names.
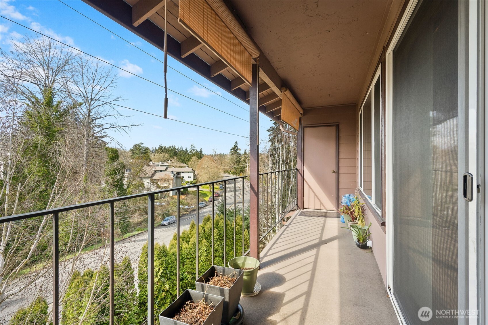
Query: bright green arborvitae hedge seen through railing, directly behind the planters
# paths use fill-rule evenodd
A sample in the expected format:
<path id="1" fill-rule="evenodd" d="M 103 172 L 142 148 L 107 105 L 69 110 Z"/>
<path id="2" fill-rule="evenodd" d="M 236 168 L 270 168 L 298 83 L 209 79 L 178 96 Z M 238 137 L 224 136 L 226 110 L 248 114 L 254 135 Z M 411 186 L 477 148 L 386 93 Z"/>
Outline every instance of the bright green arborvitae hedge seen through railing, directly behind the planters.
<path id="1" fill-rule="evenodd" d="M 226 262 L 234 257 L 234 223 L 233 214 L 227 219 L 225 233 Z M 199 275 L 212 265 L 212 218 L 203 218 L 199 226 Z M 236 256 L 243 255 L 242 250 L 242 215 L 236 216 Z M 244 229 L 244 252 L 249 248 L 249 232 Z M 176 299 L 176 233 L 166 245 L 155 244 L 154 247 L 154 306 L 155 315 Z M 214 264 L 224 265 L 224 217 L 220 214 L 214 219 Z M 180 235 L 180 292 L 194 289 L 196 280 L 196 224 L 192 221 L 190 228 Z M 147 317 L 147 244 L 142 247 L 138 270 L 139 294 L 137 310 L 139 323 Z"/>

